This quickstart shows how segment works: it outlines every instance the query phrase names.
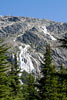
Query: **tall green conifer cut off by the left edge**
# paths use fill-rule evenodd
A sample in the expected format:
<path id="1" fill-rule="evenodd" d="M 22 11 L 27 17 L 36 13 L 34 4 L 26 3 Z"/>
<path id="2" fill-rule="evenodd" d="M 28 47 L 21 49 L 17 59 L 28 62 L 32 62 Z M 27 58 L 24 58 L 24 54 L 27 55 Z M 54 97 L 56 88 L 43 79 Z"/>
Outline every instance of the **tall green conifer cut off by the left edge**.
<path id="1" fill-rule="evenodd" d="M 1 42 L 0 42 L 1 43 Z M 10 88 L 8 85 L 8 66 L 9 63 L 7 61 L 7 50 L 8 48 L 5 47 L 5 45 L 0 44 L 0 100 L 9 100 L 9 93 Z"/>

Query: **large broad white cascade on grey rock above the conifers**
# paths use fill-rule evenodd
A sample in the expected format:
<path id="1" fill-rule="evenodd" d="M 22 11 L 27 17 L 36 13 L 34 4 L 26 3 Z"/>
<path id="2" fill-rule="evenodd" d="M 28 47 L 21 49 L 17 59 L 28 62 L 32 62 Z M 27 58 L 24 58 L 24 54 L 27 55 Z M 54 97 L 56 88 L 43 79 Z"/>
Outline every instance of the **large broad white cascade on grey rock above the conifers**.
<path id="1" fill-rule="evenodd" d="M 19 46 L 20 52 L 18 53 L 18 63 L 21 68 L 21 71 L 25 70 L 28 73 L 34 70 L 34 66 L 31 61 L 31 55 L 27 52 L 29 48 L 29 45 L 25 45 L 24 48 L 22 48 L 22 46 Z"/>

